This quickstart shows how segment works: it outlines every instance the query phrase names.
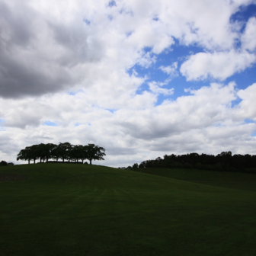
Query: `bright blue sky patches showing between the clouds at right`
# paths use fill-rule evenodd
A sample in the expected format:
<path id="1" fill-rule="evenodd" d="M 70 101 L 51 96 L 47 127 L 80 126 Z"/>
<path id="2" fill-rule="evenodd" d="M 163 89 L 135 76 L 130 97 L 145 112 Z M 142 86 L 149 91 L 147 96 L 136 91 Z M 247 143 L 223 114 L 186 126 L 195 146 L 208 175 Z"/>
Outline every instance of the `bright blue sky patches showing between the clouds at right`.
<path id="1" fill-rule="evenodd" d="M 242 24 L 240 31 L 241 33 L 243 33 L 246 27 L 246 22 L 249 20 L 249 18 L 252 17 L 256 17 L 256 5 L 241 7 L 237 12 L 235 12 L 235 14 L 232 14 L 230 21 L 232 23 Z M 236 41 L 235 48 L 237 50 L 241 48 L 241 40 Z M 144 51 L 145 53 L 152 54 L 152 48 L 146 47 Z M 174 62 L 178 63 L 177 75 L 171 78 L 171 81 L 168 82 L 167 85 L 163 85 L 163 88 L 174 88 L 174 94 L 167 96 L 159 95 L 156 105 L 162 104 L 162 102 L 166 99 L 175 100 L 182 95 L 186 95 L 186 92 L 184 91 L 184 89 L 186 88 L 199 89 L 202 86 L 207 86 L 212 82 L 221 82 L 223 84 L 235 82 L 237 85 L 237 89 L 245 89 L 255 82 L 255 63 L 253 63 L 248 69 L 245 69 L 242 72 L 235 72 L 234 75 L 231 75 L 222 81 L 219 81 L 219 79 L 213 77 L 208 77 L 203 80 L 198 79 L 197 81 L 187 81 L 187 78 L 178 71 L 181 68 L 181 64 L 184 62 L 184 59 L 186 59 L 187 56 L 207 51 L 207 49 L 203 48 L 197 43 L 194 43 L 194 45 L 186 46 L 180 43 L 179 40 L 175 40 L 175 44 L 169 49 L 163 51 L 158 55 L 152 54 L 152 56 L 155 56 L 155 62 L 152 63 L 152 65 L 150 65 L 149 67 L 143 67 L 139 64 L 136 64 L 135 66 L 130 68 L 128 72 L 131 74 L 133 71 L 136 71 L 139 76 L 148 77 L 146 82 L 144 82 L 137 91 L 138 94 L 141 94 L 142 91 L 150 91 L 148 86 L 149 82 L 165 82 L 165 80 L 169 78 L 168 74 L 162 72 L 162 70 L 159 69 L 161 66 L 171 66 Z M 238 102 L 239 101 L 236 101 L 236 103 Z"/>

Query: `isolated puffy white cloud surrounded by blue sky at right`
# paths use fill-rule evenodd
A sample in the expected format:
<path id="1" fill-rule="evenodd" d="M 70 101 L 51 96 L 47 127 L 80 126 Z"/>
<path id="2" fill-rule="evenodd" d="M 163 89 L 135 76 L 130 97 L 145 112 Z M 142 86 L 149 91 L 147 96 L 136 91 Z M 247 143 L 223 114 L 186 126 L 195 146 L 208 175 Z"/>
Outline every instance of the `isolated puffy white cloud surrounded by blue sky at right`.
<path id="1" fill-rule="evenodd" d="M 237 52 L 197 53 L 181 65 L 181 74 L 187 81 L 216 78 L 225 80 L 235 72 L 242 72 L 256 61 L 256 56 L 246 50 Z"/>

